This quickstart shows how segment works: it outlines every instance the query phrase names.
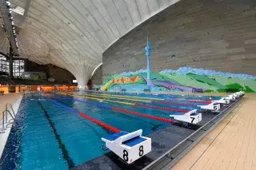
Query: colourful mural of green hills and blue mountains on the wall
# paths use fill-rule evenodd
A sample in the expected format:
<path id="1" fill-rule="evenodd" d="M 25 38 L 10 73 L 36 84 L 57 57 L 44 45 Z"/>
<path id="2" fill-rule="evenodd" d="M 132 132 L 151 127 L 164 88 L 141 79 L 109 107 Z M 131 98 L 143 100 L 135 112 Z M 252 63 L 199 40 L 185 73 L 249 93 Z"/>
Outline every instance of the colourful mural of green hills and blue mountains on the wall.
<path id="1" fill-rule="evenodd" d="M 102 90 L 110 92 L 219 92 L 229 93 L 244 90 L 256 92 L 256 77 L 249 74 L 223 73 L 210 69 L 182 67 L 165 69 L 159 73 L 147 70 L 110 75 L 103 81 Z"/>

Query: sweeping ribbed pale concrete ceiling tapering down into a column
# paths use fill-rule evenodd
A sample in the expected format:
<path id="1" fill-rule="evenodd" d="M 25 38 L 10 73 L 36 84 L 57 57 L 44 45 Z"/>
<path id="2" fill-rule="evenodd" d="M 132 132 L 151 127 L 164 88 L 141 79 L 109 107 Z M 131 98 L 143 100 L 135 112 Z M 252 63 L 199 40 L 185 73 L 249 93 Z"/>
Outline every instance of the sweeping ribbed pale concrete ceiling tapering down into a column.
<path id="1" fill-rule="evenodd" d="M 10 0 L 20 57 L 58 65 L 86 85 L 102 53 L 146 19 L 179 0 Z M 8 53 L 0 30 L 0 50 Z"/>

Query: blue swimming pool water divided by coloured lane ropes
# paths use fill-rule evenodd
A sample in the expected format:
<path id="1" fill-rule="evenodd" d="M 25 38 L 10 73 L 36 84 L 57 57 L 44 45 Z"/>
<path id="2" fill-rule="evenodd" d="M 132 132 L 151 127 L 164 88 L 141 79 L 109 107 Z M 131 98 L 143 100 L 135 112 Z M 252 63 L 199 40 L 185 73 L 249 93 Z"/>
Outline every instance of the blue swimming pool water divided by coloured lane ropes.
<path id="1" fill-rule="evenodd" d="M 80 117 L 79 113 L 126 132 L 142 128 L 143 136 L 146 136 L 166 128 L 170 123 L 122 113 L 120 109 L 169 119 L 170 113 L 176 111 L 159 108 L 186 110 L 197 108 L 191 105 L 149 102 L 175 98 L 171 101 L 172 103 L 191 104 L 191 99 L 183 101 L 182 96 L 150 94 L 113 96 L 112 93 L 110 95 L 101 96 L 100 93 L 79 93 L 69 96 L 55 93 L 44 94 L 44 96 L 36 93 L 25 94 L 18 109 L 16 125 L 10 132 L 2 154 L 0 168 L 67 169 L 106 153 L 102 150 L 101 137 L 113 132 Z M 86 97 L 95 97 L 100 101 Z M 207 100 L 209 97 L 201 98 Z M 123 103 L 154 105 L 158 109 Z"/>

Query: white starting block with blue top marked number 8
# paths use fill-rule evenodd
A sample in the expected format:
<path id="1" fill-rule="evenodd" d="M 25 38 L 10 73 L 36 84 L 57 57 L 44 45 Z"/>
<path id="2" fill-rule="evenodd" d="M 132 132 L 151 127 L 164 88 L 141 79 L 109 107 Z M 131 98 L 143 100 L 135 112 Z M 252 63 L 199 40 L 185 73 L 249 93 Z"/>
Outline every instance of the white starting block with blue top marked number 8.
<path id="1" fill-rule="evenodd" d="M 106 148 L 117 154 L 127 164 L 133 163 L 138 158 L 151 151 L 151 139 L 142 136 L 142 129 L 135 132 L 118 132 L 102 137 Z"/>

